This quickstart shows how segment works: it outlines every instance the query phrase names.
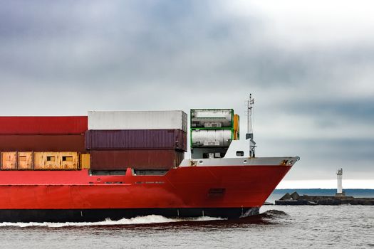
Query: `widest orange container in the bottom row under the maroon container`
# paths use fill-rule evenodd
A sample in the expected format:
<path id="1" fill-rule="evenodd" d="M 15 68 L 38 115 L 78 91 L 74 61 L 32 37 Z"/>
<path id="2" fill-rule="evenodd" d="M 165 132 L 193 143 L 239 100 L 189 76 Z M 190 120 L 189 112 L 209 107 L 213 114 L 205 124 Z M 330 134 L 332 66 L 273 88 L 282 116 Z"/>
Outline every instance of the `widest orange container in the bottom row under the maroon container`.
<path id="1" fill-rule="evenodd" d="M 71 170 L 78 169 L 77 152 L 34 152 L 33 169 Z"/>

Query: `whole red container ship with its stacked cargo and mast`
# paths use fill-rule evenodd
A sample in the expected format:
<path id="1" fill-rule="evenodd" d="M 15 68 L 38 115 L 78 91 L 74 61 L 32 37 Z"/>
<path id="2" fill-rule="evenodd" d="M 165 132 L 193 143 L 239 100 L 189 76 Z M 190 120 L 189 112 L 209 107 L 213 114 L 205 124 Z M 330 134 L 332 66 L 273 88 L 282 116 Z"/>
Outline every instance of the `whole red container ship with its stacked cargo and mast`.
<path id="1" fill-rule="evenodd" d="M 240 139 L 232 109 L 189 118 L 185 159 L 180 110 L 0 117 L 0 222 L 259 213 L 298 157 L 255 157 L 253 133 Z"/>

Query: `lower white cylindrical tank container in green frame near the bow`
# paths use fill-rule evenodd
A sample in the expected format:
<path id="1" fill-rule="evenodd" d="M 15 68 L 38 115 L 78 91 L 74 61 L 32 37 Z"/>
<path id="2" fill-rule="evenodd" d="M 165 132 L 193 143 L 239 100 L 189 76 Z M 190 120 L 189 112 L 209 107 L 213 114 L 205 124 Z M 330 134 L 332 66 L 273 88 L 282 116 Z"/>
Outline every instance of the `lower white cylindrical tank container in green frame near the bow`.
<path id="1" fill-rule="evenodd" d="M 192 129 L 191 147 L 229 147 L 233 136 L 231 129 Z"/>

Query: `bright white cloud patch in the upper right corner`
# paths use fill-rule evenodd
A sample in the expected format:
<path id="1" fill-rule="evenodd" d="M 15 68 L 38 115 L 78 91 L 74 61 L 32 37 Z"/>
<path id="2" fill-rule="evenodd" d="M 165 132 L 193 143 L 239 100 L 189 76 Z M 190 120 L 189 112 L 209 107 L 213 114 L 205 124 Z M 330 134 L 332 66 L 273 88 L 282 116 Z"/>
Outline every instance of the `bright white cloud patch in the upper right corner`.
<path id="1" fill-rule="evenodd" d="M 287 51 L 308 48 L 370 46 L 374 40 L 373 1 L 332 0 L 223 1 L 233 16 L 261 16 L 268 40 Z M 274 42 L 275 41 L 275 42 Z"/>

